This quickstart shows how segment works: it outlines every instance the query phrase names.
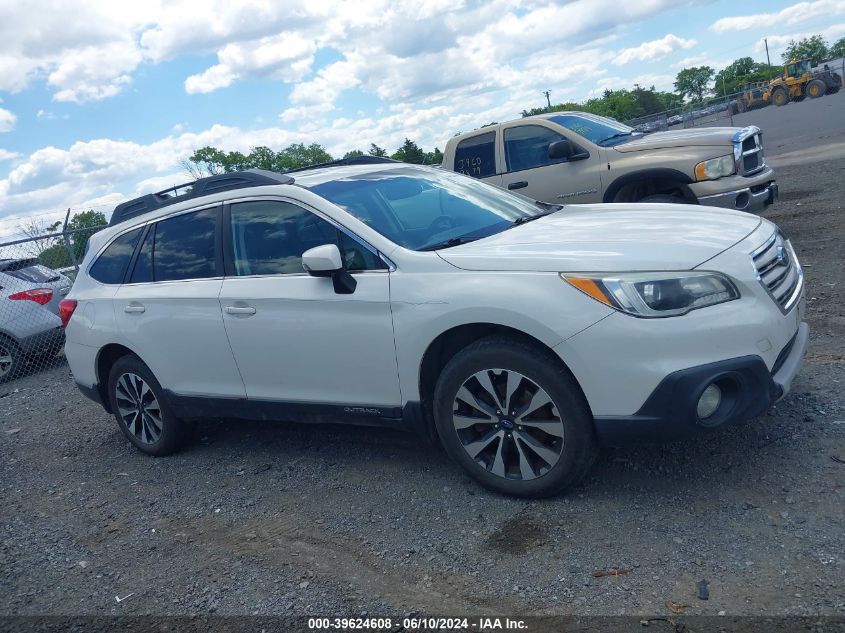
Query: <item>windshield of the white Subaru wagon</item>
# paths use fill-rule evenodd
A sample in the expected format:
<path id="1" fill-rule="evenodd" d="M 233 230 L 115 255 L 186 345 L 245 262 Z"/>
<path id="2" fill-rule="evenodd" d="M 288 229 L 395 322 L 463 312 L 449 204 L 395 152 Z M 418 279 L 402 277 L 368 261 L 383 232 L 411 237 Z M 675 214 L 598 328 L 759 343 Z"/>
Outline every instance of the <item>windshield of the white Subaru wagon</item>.
<path id="1" fill-rule="evenodd" d="M 460 174 L 410 167 L 368 172 L 309 189 L 412 250 L 487 237 L 545 210 L 533 200 Z"/>

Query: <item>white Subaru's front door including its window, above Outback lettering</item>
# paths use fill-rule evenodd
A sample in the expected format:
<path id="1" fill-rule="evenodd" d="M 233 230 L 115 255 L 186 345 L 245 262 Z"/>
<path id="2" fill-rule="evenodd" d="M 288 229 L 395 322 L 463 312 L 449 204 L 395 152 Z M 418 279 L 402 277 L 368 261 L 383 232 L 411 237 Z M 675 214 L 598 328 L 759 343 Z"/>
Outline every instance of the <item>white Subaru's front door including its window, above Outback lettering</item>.
<path id="1" fill-rule="evenodd" d="M 390 275 L 373 251 L 283 200 L 238 202 L 224 214 L 223 322 L 250 400 L 332 405 L 395 417 L 401 404 Z M 338 294 L 302 253 L 336 243 L 357 281 Z"/>

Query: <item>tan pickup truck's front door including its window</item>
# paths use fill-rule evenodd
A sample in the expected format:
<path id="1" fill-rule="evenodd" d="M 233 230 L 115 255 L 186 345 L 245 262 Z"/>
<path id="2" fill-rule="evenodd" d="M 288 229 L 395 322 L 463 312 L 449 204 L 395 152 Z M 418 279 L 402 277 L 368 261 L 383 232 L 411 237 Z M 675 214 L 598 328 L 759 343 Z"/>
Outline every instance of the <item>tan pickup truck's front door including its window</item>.
<path id="1" fill-rule="evenodd" d="M 576 151 L 587 151 L 575 135 L 564 136 L 558 126 L 545 122 L 503 126 L 502 186 L 551 204 L 601 202 L 603 163 L 597 151 L 582 160 L 549 158 L 549 145 L 565 138 Z"/>

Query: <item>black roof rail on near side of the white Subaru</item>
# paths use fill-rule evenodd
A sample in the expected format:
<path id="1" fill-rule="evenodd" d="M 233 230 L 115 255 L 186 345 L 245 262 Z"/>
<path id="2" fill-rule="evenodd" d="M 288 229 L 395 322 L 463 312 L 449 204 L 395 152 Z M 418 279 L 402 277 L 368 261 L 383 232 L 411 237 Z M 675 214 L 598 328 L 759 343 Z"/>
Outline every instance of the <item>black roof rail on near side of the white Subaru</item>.
<path id="1" fill-rule="evenodd" d="M 161 209 L 171 204 L 176 204 L 177 202 L 184 202 L 185 200 L 200 198 L 213 193 L 220 193 L 221 191 L 259 185 L 291 184 L 293 184 L 293 177 L 266 169 L 248 169 L 246 171 L 235 171 L 228 174 L 200 178 L 194 182 L 176 185 L 158 193 L 148 193 L 140 198 L 120 203 L 114 208 L 109 226 L 120 224 L 130 218 Z M 180 195 L 178 190 L 186 187 L 190 187 L 190 191 Z"/>

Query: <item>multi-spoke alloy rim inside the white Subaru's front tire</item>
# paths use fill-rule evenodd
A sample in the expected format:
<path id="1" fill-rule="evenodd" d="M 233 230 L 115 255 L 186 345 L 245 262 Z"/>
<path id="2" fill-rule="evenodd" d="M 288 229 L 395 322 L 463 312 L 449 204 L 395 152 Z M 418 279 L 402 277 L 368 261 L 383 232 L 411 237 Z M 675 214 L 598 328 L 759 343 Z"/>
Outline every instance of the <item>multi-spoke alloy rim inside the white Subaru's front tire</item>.
<path id="1" fill-rule="evenodd" d="M 488 472 L 536 479 L 563 452 L 563 420 L 549 394 L 509 369 L 484 369 L 458 389 L 452 422 L 461 446 Z"/>

